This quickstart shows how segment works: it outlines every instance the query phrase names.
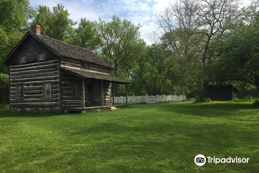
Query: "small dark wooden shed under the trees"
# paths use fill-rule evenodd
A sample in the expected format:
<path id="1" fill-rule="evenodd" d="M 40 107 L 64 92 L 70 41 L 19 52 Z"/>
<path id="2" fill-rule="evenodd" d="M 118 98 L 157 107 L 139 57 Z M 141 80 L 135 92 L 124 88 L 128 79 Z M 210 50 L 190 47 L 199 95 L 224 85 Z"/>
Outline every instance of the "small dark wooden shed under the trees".
<path id="1" fill-rule="evenodd" d="M 226 101 L 237 98 L 237 92 L 240 91 L 233 84 L 208 85 L 208 97 L 214 101 Z"/>

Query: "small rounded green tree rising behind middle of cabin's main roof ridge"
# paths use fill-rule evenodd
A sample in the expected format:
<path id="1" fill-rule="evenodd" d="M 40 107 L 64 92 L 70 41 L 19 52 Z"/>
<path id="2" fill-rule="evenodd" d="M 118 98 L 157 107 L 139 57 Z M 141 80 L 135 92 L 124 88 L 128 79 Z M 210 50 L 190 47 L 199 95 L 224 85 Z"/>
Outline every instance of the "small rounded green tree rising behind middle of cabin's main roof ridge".
<path id="1" fill-rule="evenodd" d="M 71 44 L 89 50 L 97 50 L 101 40 L 94 26 L 95 22 L 81 18 L 75 33 L 71 35 Z"/>

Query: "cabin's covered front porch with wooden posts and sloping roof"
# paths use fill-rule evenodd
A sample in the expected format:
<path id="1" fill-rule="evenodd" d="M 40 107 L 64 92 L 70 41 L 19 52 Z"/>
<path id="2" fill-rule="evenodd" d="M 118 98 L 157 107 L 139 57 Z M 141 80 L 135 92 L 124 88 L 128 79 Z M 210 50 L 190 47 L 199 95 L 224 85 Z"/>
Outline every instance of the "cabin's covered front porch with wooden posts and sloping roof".
<path id="1" fill-rule="evenodd" d="M 62 102 L 64 111 L 83 112 L 128 104 L 129 82 L 108 73 L 61 67 Z M 112 85 L 111 85 L 112 84 Z M 115 84 L 126 85 L 126 104 L 115 105 Z M 76 96 L 76 97 L 75 97 Z M 111 100 L 113 98 L 113 101 Z"/>

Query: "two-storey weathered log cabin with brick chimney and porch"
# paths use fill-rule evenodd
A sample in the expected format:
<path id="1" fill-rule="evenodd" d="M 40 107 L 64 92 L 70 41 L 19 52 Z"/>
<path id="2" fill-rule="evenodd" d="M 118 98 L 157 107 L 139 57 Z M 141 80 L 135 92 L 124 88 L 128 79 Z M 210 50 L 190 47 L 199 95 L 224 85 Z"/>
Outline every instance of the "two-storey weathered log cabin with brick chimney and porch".
<path id="1" fill-rule="evenodd" d="M 41 35 L 39 25 L 31 27 L 3 64 L 9 66 L 12 110 L 115 106 L 115 83 L 126 85 L 127 97 L 129 82 L 111 75 L 113 66 L 90 50 Z"/>

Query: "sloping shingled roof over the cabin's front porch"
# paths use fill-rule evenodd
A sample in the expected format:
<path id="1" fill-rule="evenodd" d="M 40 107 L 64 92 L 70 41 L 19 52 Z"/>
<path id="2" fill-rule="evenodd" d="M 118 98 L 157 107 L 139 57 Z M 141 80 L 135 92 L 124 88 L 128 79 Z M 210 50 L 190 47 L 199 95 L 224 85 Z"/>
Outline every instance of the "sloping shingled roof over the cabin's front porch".
<path id="1" fill-rule="evenodd" d="M 110 83 L 118 83 L 118 84 L 129 84 L 130 82 L 127 82 L 124 79 L 118 78 L 116 76 L 113 76 L 111 74 L 101 73 L 101 72 L 95 72 L 95 71 L 88 71 L 88 70 L 81 70 L 76 68 L 69 68 L 69 67 L 61 67 L 61 70 L 70 74 L 73 74 L 75 76 L 81 77 L 83 79 L 97 79 L 97 80 L 104 80 L 106 82 Z"/>

